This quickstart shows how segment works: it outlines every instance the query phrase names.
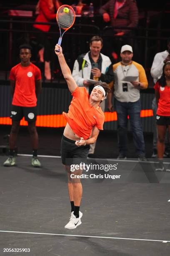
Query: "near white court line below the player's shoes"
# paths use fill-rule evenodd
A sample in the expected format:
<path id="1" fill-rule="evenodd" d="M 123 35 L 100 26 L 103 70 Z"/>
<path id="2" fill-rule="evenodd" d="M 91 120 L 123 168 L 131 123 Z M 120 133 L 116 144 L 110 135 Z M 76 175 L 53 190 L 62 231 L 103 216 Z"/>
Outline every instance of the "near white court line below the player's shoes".
<path id="1" fill-rule="evenodd" d="M 81 235 L 66 235 L 66 234 L 53 234 L 53 233 L 35 233 L 35 232 L 20 232 L 20 231 L 7 231 L 0 230 L 2 233 L 22 233 L 22 234 L 35 234 L 35 235 L 50 235 L 50 236 L 75 236 L 75 237 L 91 237 L 91 238 L 109 238 L 109 239 L 122 239 L 122 240 L 138 240 L 138 241 L 151 241 L 151 242 L 162 242 L 168 243 L 168 240 L 153 240 L 153 239 L 138 239 L 138 238 L 121 238 L 121 237 L 110 237 L 110 236 L 81 236 Z"/>

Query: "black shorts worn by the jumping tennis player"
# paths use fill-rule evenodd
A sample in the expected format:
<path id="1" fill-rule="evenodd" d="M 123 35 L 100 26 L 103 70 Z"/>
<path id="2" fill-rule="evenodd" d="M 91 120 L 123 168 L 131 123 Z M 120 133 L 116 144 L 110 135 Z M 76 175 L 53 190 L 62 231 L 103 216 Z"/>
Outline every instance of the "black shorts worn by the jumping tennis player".
<path id="1" fill-rule="evenodd" d="M 75 141 L 66 138 L 61 139 L 61 159 L 62 164 L 72 165 L 86 163 L 90 146 L 76 146 Z"/>

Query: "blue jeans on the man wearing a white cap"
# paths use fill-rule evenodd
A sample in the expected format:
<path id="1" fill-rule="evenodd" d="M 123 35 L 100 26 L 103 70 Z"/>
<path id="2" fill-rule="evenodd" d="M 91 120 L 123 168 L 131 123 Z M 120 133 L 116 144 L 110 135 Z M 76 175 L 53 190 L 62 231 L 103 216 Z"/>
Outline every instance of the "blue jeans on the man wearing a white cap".
<path id="1" fill-rule="evenodd" d="M 140 120 L 140 100 L 136 102 L 120 102 L 115 99 L 115 110 L 117 112 L 119 152 L 124 155 L 127 154 L 127 125 L 129 115 L 136 153 L 138 156 L 145 156 L 145 142 Z"/>

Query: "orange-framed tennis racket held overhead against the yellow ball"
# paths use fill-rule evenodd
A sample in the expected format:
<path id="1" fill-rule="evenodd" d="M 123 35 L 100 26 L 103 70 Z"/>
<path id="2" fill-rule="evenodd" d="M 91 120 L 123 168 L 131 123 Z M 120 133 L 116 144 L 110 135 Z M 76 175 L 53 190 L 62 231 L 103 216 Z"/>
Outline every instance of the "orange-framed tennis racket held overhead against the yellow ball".
<path id="1" fill-rule="evenodd" d="M 69 28 L 73 26 L 75 22 L 74 9 L 70 5 L 61 5 L 57 10 L 56 20 L 60 29 L 60 38 L 58 39 L 58 45 L 61 45 L 62 36 Z"/>

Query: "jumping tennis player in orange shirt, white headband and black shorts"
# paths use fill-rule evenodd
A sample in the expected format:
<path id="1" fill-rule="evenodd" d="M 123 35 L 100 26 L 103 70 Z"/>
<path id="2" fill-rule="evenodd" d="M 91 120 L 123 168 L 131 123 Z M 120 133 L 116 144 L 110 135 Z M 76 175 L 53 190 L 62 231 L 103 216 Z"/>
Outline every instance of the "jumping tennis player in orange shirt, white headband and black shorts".
<path id="1" fill-rule="evenodd" d="M 82 212 L 79 209 L 82 184 L 79 178 L 71 178 L 70 174 L 77 177 L 76 175 L 80 175 L 82 170 L 79 168 L 71 172 L 70 165 L 80 166 L 80 163 L 85 163 L 89 145 L 95 143 L 100 130 L 103 130 L 105 116 L 99 104 L 104 100 L 106 93 L 110 92 L 110 88 L 106 83 L 95 84 L 91 94 L 88 95 L 85 87 L 77 86 L 62 54 L 62 48 L 58 44 L 55 46 L 55 54 L 58 56 L 62 74 L 73 96 L 68 113 L 63 112 L 67 124 L 61 141 L 61 158 L 68 174 L 68 192 L 71 202 L 71 218 L 65 228 L 73 229 L 81 224 Z"/>

